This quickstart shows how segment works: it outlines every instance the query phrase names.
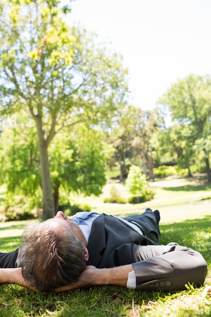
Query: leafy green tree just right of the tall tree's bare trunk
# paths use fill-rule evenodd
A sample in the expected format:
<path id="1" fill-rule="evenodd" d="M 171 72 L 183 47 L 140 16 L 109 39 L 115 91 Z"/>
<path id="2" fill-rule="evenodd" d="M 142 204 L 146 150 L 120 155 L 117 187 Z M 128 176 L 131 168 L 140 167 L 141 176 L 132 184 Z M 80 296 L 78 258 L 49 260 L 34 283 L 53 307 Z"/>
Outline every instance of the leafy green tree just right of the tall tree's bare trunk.
<path id="1" fill-rule="evenodd" d="M 50 145 L 50 165 L 55 210 L 59 206 L 59 191 L 85 195 L 102 193 L 106 184 L 105 162 L 109 151 L 101 131 L 77 129 L 58 134 Z"/>

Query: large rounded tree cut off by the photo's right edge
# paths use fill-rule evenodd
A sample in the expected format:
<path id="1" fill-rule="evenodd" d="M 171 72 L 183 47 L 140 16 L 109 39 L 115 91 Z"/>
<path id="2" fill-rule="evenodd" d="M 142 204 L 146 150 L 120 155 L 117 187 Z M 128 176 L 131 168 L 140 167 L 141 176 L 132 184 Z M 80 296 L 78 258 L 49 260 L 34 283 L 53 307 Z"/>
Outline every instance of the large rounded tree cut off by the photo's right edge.
<path id="1" fill-rule="evenodd" d="M 211 181 L 209 167 L 209 152 L 205 140 L 210 135 L 211 118 L 211 79 L 209 76 L 189 75 L 184 80 L 174 84 L 167 93 L 158 100 L 163 107 L 168 107 L 172 120 L 183 124 L 192 132 L 191 138 L 186 138 L 187 147 L 192 147 L 198 139 L 204 140 L 204 155 L 207 179 Z M 190 135 L 189 135 L 190 136 Z M 191 142 L 188 142 L 190 141 Z"/>

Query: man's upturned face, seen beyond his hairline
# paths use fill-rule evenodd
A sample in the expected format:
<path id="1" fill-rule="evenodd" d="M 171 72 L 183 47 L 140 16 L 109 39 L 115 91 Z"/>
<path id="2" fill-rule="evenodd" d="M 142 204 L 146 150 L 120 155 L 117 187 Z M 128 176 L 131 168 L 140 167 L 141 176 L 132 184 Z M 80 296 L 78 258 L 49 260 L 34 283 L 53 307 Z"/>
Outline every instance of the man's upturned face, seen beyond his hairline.
<path id="1" fill-rule="evenodd" d="M 67 219 L 62 211 L 58 211 L 56 216 L 45 222 L 49 226 L 55 227 L 55 229 L 71 230 L 71 232 L 85 245 L 87 246 L 87 240 L 85 235 L 80 230 L 77 223 L 71 219 Z"/>

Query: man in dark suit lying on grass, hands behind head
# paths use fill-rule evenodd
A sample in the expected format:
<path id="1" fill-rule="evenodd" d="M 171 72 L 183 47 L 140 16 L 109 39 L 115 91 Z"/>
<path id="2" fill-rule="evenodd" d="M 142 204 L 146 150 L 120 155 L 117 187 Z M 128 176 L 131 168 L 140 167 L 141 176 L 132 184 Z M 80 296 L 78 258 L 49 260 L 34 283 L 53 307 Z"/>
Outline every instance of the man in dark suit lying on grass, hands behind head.
<path id="1" fill-rule="evenodd" d="M 21 246 L 0 253 L 0 283 L 41 292 L 116 285 L 179 291 L 203 284 L 207 265 L 192 249 L 159 243 L 159 212 L 125 218 L 77 213 L 27 226 Z M 80 219 L 81 216 L 81 219 Z"/>

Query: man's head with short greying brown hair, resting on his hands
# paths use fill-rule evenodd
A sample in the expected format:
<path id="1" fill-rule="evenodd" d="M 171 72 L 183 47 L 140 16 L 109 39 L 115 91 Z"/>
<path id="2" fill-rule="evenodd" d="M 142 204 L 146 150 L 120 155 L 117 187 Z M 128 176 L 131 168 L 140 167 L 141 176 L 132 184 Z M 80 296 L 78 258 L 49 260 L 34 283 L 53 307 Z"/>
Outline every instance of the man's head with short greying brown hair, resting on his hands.
<path id="1" fill-rule="evenodd" d="M 73 284 L 86 267 L 87 241 L 78 225 L 62 212 L 22 234 L 18 264 L 24 279 L 41 292 Z"/>

